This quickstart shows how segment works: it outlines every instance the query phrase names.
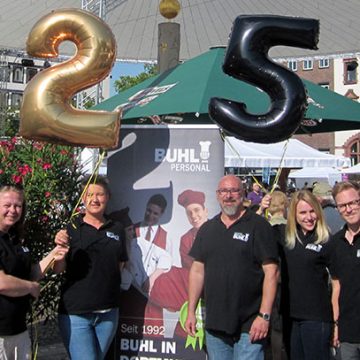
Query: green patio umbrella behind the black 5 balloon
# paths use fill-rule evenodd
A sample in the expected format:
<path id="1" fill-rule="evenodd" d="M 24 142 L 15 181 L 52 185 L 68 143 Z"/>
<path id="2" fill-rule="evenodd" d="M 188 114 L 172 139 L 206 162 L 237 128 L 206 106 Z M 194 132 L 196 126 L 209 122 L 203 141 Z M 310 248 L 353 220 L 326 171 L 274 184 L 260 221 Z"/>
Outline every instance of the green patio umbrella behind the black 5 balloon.
<path id="1" fill-rule="evenodd" d="M 226 75 L 222 71 L 224 54 L 225 48 L 210 49 L 109 98 L 93 109 L 112 111 L 123 107 L 123 124 L 144 122 L 152 116 L 161 116 L 162 120 L 170 123 L 212 124 L 208 116 L 209 100 L 221 97 L 244 102 L 251 113 L 266 113 L 270 106 L 267 94 Z M 310 81 L 303 82 L 309 106 L 298 133 L 360 127 L 360 103 Z"/>

